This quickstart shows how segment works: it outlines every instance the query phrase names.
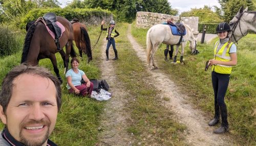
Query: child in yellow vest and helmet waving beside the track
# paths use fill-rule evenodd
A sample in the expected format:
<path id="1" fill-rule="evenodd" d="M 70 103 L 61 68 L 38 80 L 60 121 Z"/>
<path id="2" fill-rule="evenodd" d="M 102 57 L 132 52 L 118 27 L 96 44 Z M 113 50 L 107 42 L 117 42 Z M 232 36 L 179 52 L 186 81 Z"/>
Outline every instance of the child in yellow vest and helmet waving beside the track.
<path id="1" fill-rule="evenodd" d="M 110 21 L 110 27 L 109 28 L 103 28 L 105 21 L 101 21 L 101 30 L 106 31 L 106 40 L 108 40 L 108 44 L 106 44 L 106 61 L 109 60 L 109 48 L 110 45 L 112 44 L 113 50 L 115 52 L 115 57 L 112 60 L 117 60 L 118 55 L 117 55 L 117 50 L 116 50 L 116 43 L 114 37 L 119 36 L 119 33 L 116 31 L 114 28 L 116 25 L 116 22 L 114 20 Z"/>

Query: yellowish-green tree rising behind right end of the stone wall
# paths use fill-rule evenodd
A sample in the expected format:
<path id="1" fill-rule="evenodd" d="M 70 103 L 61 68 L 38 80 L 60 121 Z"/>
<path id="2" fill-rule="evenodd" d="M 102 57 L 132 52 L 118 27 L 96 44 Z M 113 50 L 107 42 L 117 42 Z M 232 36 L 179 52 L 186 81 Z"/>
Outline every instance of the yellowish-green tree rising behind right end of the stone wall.
<path id="1" fill-rule="evenodd" d="M 199 17 L 199 22 L 220 22 L 222 19 L 220 16 L 211 10 L 211 7 L 204 6 L 204 8 L 199 9 L 191 9 L 187 12 L 182 12 L 180 14 L 181 17 L 191 17 L 191 16 L 197 16 Z"/>

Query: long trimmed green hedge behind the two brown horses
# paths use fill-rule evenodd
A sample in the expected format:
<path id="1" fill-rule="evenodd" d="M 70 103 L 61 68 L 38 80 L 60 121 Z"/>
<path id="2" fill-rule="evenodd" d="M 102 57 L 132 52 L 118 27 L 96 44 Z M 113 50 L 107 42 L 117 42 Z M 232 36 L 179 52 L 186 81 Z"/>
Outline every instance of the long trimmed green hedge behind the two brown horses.
<path id="1" fill-rule="evenodd" d="M 68 8 L 33 9 L 29 11 L 29 13 L 21 19 L 19 28 L 24 29 L 29 21 L 35 20 L 48 12 L 53 12 L 57 16 L 65 17 L 68 20 L 77 18 L 83 21 L 89 20 L 92 16 L 103 18 L 103 17 L 110 17 L 112 15 L 110 11 L 102 10 L 100 8 L 97 8 L 97 9 L 68 9 Z"/>

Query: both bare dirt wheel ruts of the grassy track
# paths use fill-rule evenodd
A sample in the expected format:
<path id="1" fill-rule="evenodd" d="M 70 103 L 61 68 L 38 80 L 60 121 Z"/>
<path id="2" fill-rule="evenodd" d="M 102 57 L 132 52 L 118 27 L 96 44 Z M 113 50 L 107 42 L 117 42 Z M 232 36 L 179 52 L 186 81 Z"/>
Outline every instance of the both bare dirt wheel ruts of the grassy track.
<path id="1" fill-rule="evenodd" d="M 146 52 L 132 37 L 131 25 L 129 25 L 126 34 L 137 56 L 146 64 Z M 102 46 L 103 48 L 106 46 L 105 43 L 106 41 Z M 105 58 L 104 50 L 105 49 L 102 49 L 102 59 Z M 113 61 L 103 61 L 100 67 L 102 77 L 109 79 L 109 84 L 112 85 L 111 92 L 114 93 L 114 95 L 113 98 L 108 101 L 105 113 L 103 113 L 104 116 L 102 116 L 102 126 L 100 129 L 103 129 L 103 132 L 101 132 L 99 136 L 101 143 L 98 145 L 137 145 L 137 143 L 134 143 L 133 136 L 125 131 L 125 127 L 127 126 L 125 119 L 129 118 L 129 113 L 125 111 L 124 106 L 125 103 L 127 103 L 125 99 L 126 94 L 120 88 L 122 85 L 117 81 L 112 62 Z M 161 98 L 167 97 L 170 99 L 169 101 L 163 100 L 163 105 L 175 113 L 180 123 L 187 126 L 185 137 L 188 145 L 234 145 L 231 143 L 229 134 L 216 135 L 212 133 L 212 131 L 218 127 L 209 127 L 207 123 L 210 119 L 205 118 L 202 116 L 201 111 L 193 108 L 193 106 L 188 103 L 189 97 L 180 93 L 175 83 L 160 69 L 146 71 L 150 73 L 150 78 L 153 79 L 150 81 L 152 84 L 155 82 L 161 83 L 156 86 L 158 90 L 161 90 Z M 163 83 L 162 81 L 165 82 Z"/>

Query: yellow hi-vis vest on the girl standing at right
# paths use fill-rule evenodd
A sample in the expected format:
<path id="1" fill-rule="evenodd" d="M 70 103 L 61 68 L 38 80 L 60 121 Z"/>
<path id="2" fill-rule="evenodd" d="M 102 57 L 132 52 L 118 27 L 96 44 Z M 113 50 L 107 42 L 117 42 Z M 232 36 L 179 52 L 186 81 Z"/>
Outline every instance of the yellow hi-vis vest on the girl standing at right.
<path id="1" fill-rule="evenodd" d="M 218 41 L 217 41 L 218 42 Z M 216 42 L 216 43 L 217 43 Z M 215 44 L 216 44 L 215 43 Z M 219 45 L 220 41 L 218 42 L 218 44 L 216 45 L 215 49 L 214 49 L 214 56 L 216 60 L 220 60 L 220 61 L 230 61 L 230 55 L 229 55 L 229 48 L 231 47 L 231 45 L 233 44 L 233 42 L 229 43 L 229 46 L 226 47 L 228 45 L 228 42 L 226 42 L 219 50 L 219 52 L 217 53 L 217 47 Z M 214 65 L 211 68 L 212 71 L 218 72 L 220 74 L 231 74 L 231 70 L 232 70 L 232 66 L 227 66 L 227 65 L 221 65 L 221 64 L 217 64 Z"/>

